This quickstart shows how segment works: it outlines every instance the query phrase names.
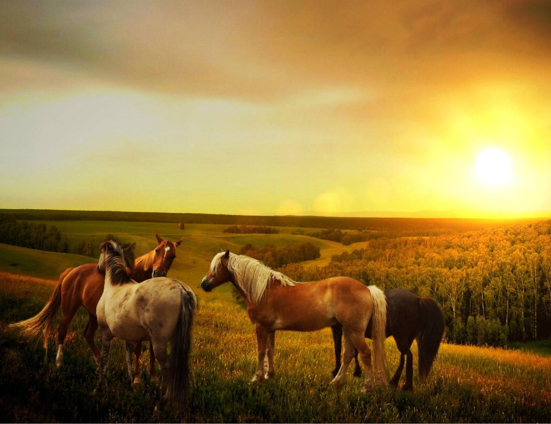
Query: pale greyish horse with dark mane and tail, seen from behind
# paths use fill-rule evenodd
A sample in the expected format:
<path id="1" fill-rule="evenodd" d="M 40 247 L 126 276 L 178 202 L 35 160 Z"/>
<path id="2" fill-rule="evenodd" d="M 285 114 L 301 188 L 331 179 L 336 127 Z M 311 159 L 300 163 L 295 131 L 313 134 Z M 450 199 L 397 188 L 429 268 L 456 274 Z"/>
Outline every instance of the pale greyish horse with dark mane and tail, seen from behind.
<path id="1" fill-rule="evenodd" d="M 100 248 L 98 268 L 105 271 L 105 284 L 96 309 L 102 349 L 95 391 L 102 388 L 114 337 L 126 341 L 130 384 L 134 343 L 150 340 L 164 377 L 160 406 L 168 399 L 184 400 L 189 383 L 191 325 L 197 307 L 195 293 L 183 282 L 166 277 L 138 284 L 126 272 L 125 251 L 120 244 L 106 241 Z M 166 351 L 169 341 L 170 357 Z"/>

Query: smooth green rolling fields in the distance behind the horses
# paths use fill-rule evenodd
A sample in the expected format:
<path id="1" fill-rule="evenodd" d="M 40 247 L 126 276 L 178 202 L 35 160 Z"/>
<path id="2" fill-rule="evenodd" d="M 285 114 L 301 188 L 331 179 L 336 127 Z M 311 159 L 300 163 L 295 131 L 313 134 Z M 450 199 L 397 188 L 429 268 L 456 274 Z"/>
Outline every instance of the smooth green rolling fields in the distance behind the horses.
<path id="1" fill-rule="evenodd" d="M 185 281 L 194 289 L 207 273 L 213 256 L 220 249 L 237 252 L 244 244 L 251 243 L 262 247 L 271 243 L 276 247 L 284 244 L 311 242 L 321 249 L 321 257 L 305 264 L 328 262 L 332 254 L 364 247 L 365 243 L 343 246 L 341 243 L 320 240 L 305 235 L 293 235 L 296 227 L 278 227 L 279 234 L 234 234 L 225 233 L 227 225 L 219 224 L 186 224 L 185 230 L 178 230 L 175 224 L 166 222 L 117 222 L 117 221 L 36 221 L 46 225 L 55 225 L 67 237 L 69 244 L 74 245 L 82 240 L 90 240 L 99 257 L 98 246 L 105 236 L 112 233 L 125 242 L 136 243 L 138 255 L 146 253 L 156 245 L 155 232 L 161 237 L 176 241 L 183 237 L 182 244 L 176 251 L 170 276 Z M 318 229 L 310 229 L 316 231 Z M 67 267 L 94 262 L 94 258 L 64 253 L 52 253 L 25 249 L 0 243 L 0 270 L 23 273 L 42 278 L 57 279 Z M 12 265 L 12 264 L 17 265 Z M 207 296 L 225 296 L 229 287 Z"/>

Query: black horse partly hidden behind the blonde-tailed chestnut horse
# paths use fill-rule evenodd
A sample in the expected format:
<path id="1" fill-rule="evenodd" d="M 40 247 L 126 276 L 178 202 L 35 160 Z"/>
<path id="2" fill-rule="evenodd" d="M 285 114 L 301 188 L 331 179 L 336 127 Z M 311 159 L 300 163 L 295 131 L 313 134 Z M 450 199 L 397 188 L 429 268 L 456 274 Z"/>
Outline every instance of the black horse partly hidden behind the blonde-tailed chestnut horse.
<path id="1" fill-rule="evenodd" d="M 402 390 L 413 390 L 413 355 L 409 350 L 413 340 L 417 339 L 419 351 L 419 378 L 424 381 L 429 375 L 434 358 L 440 347 L 442 335 L 444 335 L 444 315 L 438 304 L 430 297 L 419 297 L 415 293 L 404 289 L 391 289 L 385 292 L 386 296 L 386 336 L 393 336 L 396 346 L 400 351 L 400 365 L 390 380 L 390 384 L 396 387 L 404 368 L 404 355 L 406 363 L 406 384 Z M 341 368 L 342 349 L 342 325 L 331 327 L 335 344 L 335 369 L 333 377 Z M 371 339 L 371 321 L 365 330 L 365 336 Z M 354 357 L 356 368 L 354 377 L 361 376 L 361 368 L 358 362 L 358 351 Z"/>

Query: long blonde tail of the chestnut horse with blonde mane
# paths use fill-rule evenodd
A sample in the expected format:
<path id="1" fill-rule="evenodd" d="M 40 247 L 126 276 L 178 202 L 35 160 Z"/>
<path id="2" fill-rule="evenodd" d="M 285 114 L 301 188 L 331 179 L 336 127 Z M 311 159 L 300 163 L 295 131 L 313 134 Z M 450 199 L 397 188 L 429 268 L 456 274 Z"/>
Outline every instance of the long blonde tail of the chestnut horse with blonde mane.
<path id="1" fill-rule="evenodd" d="M 373 340 L 375 379 L 379 384 L 387 383 L 386 376 L 386 297 L 385 293 L 377 286 L 369 286 L 373 298 L 373 327 L 371 340 Z"/>

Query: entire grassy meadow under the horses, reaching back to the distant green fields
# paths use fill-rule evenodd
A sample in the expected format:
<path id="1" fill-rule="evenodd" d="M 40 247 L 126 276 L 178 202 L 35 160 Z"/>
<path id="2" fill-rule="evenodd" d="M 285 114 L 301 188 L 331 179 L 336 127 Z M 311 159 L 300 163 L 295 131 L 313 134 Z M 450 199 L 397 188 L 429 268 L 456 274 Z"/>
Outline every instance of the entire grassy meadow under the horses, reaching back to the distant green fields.
<path id="1" fill-rule="evenodd" d="M 321 248 L 321 257 L 310 263 L 323 264 L 331 254 L 359 246 L 293 235 L 289 227 L 281 227 L 277 235 L 240 235 L 224 233 L 226 225 L 186 224 L 180 231 L 175 224 L 148 222 L 47 224 L 55 224 L 69 240 L 92 240 L 96 246 L 114 233 L 123 241 L 135 241 L 138 254 L 156 245 L 155 232 L 170 240 L 184 237 L 169 275 L 185 281 L 199 296 L 190 407 L 169 407 L 154 415 L 159 393 L 149 383 L 148 354 L 142 355 L 144 384 L 131 392 L 121 341 L 111 350 L 105 393 L 91 395 L 96 366 L 82 338 L 84 310 L 67 336 L 65 366 L 55 368 L 53 341 L 45 362 L 41 341 L 22 339 L 6 325 L 37 313 L 64 268 L 94 259 L 0 244 L 0 416 L 8 422 L 542 422 L 551 416 L 549 356 L 443 344 L 428 380 L 420 384 L 414 344 L 415 391 L 377 387 L 364 395 L 350 370 L 341 389 L 329 386 L 334 365 L 329 329 L 279 331 L 276 378 L 262 387 L 250 385 L 256 339 L 246 311 L 233 301 L 229 284 L 211 293 L 198 287 L 212 256 L 220 248 L 236 251 L 246 243 L 261 247 L 310 241 Z M 392 338 L 386 349 L 390 378 L 399 360 Z"/>

